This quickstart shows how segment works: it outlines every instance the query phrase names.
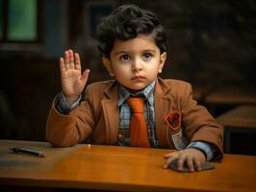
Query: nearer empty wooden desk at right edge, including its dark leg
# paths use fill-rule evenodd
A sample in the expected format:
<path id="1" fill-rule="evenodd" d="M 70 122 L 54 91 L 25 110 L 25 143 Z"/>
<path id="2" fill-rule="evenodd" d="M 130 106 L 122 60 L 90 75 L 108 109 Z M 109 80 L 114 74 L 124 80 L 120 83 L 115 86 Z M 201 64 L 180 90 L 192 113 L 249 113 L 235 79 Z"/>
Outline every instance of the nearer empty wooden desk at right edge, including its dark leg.
<path id="1" fill-rule="evenodd" d="M 256 106 L 239 106 L 221 115 L 216 120 L 224 127 L 224 149 L 231 152 L 230 137 L 233 132 L 251 133 L 256 132 Z M 253 139 L 253 138 L 251 138 Z M 250 145 L 248 139 L 248 145 Z M 252 151 L 253 149 L 249 150 Z M 255 150 L 255 149 L 254 149 Z"/>

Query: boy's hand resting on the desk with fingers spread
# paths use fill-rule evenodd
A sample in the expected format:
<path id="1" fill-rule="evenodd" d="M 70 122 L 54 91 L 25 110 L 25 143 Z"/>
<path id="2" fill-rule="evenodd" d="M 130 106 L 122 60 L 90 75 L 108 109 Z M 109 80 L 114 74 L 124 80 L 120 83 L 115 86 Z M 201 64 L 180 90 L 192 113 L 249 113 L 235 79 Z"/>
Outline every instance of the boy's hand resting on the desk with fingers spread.
<path id="1" fill-rule="evenodd" d="M 166 154 L 165 158 L 167 160 L 166 163 L 164 164 L 164 168 L 168 168 L 173 160 L 177 160 L 179 170 L 182 170 L 184 164 L 187 163 L 191 172 L 193 172 L 194 170 L 200 171 L 200 163 L 206 160 L 204 154 L 200 150 L 194 148 L 188 148 L 185 150 Z"/>

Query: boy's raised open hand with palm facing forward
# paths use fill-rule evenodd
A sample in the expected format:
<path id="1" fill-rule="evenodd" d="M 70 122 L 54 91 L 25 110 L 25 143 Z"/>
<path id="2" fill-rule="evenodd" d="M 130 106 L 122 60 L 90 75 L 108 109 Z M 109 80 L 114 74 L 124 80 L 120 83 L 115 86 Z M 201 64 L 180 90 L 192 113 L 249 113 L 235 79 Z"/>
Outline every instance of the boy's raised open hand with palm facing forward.
<path id="1" fill-rule="evenodd" d="M 64 58 L 60 58 L 62 88 L 68 104 L 72 104 L 81 94 L 87 84 L 90 70 L 81 72 L 79 54 L 72 50 L 64 52 Z"/>

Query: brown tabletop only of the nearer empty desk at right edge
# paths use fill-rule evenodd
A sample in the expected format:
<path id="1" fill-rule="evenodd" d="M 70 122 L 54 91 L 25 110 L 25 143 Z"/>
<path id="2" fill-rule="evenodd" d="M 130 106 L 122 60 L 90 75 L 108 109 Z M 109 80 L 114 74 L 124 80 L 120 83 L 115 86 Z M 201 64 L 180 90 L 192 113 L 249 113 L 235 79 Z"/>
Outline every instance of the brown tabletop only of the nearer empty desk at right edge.
<path id="1" fill-rule="evenodd" d="M 256 106 L 239 106 L 217 117 L 224 127 L 248 128 L 256 130 Z"/>

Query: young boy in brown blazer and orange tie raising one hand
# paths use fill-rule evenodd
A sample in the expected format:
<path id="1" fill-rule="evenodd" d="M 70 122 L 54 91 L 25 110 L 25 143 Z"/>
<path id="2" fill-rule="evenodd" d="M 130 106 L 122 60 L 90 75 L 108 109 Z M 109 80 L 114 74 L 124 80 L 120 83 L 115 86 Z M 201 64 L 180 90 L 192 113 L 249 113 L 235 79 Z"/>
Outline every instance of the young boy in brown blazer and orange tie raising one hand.
<path id="1" fill-rule="evenodd" d="M 187 163 L 190 171 L 199 171 L 200 162 L 222 158 L 222 128 L 192 100 L 191 84 L 158 77 L 167 44 L 154 13 L 123 5 L 101 20 L 97 35 L 102 61 L 115 81 L 88 85 L 82 101 L 90 70 L 81 73 L 79 55 L 65 51 L 60 59 L 63 91 L 47 119 L 49 142 L 177 149 L 165 156 L 164 168 L 177 160 L 179 169 Z M 134 106 L 141 106 L 141 116 Z"/>

